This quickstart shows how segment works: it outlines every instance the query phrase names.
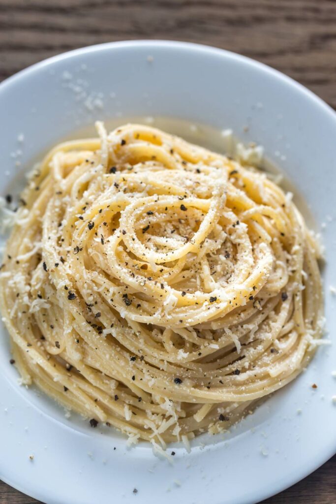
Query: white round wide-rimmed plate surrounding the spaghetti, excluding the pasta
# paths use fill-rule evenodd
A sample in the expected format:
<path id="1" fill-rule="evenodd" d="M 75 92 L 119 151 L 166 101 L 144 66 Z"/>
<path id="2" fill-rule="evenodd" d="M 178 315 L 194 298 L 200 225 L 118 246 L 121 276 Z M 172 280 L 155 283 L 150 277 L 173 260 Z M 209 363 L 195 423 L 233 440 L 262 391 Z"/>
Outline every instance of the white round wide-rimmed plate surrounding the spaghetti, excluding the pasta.
<path id="1" fill-rule="evenodd" d="M 33 159 L 96 119 L 177 117 L 232 128 L 244 141 L 262 144 L 306 199 L 317 227 L 326 224 L 325 314 L 333 336 L 336 114 L 310 91 L 227 51 L 132 41 L 79 49 L 20 72 L 1 84 L 0 109 L 3 194 L 17 192 L 19 173 Z M 182 130 L 190 137 L 188 127 Z M 190 454 L 174 448 L 170 466 L 145 443 L 127 450 L 121 435 L 66 419 L 52 401 L 19 387 L 5 330 L 1 337 L 0 476 L 48 504 L 133 498 L 147 504 L 176 498 L 187 504 L 251 504 L 297 482 L 336 451 L 334 345 L 321 347 L 306 372 L 230 436 L 208 439 L 205 447 L 196 439 Z"/>

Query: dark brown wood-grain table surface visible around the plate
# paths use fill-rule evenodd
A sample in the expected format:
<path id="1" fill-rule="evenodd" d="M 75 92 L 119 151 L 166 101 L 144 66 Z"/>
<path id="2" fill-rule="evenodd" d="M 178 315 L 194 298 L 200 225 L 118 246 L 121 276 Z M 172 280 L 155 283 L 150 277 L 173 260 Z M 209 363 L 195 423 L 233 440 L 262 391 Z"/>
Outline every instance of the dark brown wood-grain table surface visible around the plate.
<path id="1" fill-rule="evenodd" d="M 59 52 L 139 38 L 245 54 L 293 77 L 336 109 L 336 0 L 0 0 L 0 80 Z M 0 481 L 1 504 L 34 502 Z M 263 502 L 335 503 L 336 456 Z"/>

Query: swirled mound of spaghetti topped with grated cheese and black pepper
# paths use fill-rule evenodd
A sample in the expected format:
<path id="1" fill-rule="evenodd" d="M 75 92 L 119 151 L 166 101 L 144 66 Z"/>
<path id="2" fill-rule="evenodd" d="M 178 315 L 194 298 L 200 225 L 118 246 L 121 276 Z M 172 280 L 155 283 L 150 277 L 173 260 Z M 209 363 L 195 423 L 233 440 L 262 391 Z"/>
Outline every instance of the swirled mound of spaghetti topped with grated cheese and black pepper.
<path id="1" fill-rule="evenodd" d="M 221 432 L 307 365 L 318 249 L 250 166 L 143 125 L 55 147 L 7 243 L 22 382 L 165 448 Z"/>

